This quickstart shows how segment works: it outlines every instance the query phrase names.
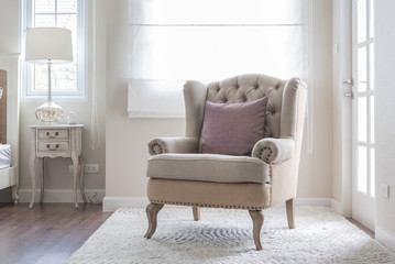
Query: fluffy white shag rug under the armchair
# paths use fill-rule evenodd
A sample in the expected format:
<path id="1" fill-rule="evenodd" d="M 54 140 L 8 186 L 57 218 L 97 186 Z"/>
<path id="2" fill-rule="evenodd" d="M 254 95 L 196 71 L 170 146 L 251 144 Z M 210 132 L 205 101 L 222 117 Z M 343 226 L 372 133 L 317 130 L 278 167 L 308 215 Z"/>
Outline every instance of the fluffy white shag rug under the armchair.
<path id="1" fill-rule="evenodd" d="M 144 209 L 117 210 L 67 263 L 395 263 L 395 255 L 328 207 L 296 207 L 296 229 L 285 207 L 264 210 L 263 250 L 255 251 L 246 210 L 165 206 L 156 232 Z"/>

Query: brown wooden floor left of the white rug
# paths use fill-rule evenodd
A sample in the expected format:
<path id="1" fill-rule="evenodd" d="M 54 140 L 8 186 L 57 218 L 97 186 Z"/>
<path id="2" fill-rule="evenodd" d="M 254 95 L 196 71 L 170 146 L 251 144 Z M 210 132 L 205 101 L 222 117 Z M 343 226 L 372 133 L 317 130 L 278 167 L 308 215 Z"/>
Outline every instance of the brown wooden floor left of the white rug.
<path id="1" fill-rule="evenodd" d="M 0 204 L 0 263 L 64 263 L 111 216 L 101 205 Z"/>

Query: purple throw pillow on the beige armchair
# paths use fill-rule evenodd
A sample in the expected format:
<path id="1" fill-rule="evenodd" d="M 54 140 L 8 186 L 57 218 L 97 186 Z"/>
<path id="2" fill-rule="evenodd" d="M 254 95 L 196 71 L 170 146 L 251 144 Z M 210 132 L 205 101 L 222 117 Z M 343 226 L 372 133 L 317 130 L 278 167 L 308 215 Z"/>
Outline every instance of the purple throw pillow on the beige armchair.
<path id="1" fill-rule="evenodd" d="M 206 101 L 201 153 L 251 155 L 263 139 L 267 97 L 251 102 Z"/>

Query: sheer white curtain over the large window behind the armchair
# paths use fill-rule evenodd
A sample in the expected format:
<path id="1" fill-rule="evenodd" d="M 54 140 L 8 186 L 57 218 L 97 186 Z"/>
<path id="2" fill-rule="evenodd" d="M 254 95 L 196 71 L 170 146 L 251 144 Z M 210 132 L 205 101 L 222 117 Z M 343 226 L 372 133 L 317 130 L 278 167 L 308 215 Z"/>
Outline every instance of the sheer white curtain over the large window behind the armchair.
<path id="1" fill-rule="evenodd" d="M 184 117 L 185 80 L 309 74 L 309 0 L 130 0 L 131 118 Z"/>

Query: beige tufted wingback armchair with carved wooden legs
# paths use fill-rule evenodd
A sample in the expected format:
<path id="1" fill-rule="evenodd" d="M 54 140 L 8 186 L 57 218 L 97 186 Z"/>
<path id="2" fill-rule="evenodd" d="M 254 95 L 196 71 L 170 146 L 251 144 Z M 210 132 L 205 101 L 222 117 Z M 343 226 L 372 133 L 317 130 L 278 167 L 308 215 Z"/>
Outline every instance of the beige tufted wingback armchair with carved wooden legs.
<path id="1" fill-rule="evenodd" d="M 241 75 L 204 85 L 184 87 L 186 133 L 149 143 L 146 207 L 150 239 L 164 205 L 193 207 L 195 221 L 200 207 L 249 210 L 256 250 L 263 209 L 286 202 L 288 227 L 295 228 L 295 197 L 304 128 L 307 87 L 298 78 L 281 80 L 265 75 Z M 215 103 L 250 102 L 267 97 L 264 136 L 251 156 L 201 153 L 206 100 Z"/>

